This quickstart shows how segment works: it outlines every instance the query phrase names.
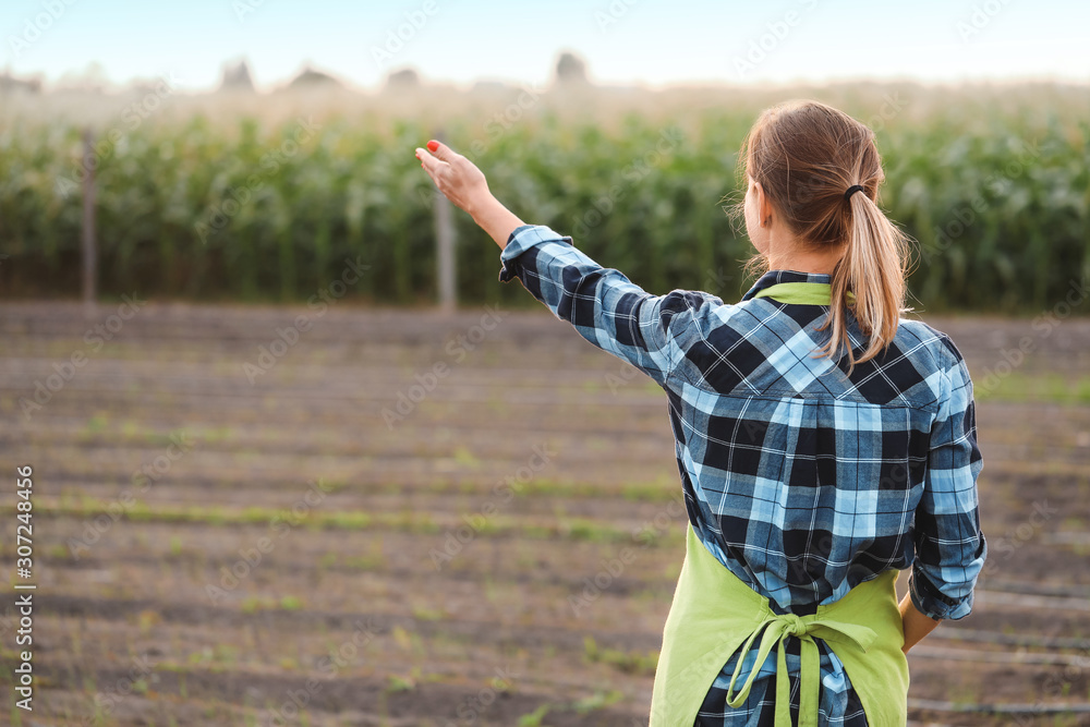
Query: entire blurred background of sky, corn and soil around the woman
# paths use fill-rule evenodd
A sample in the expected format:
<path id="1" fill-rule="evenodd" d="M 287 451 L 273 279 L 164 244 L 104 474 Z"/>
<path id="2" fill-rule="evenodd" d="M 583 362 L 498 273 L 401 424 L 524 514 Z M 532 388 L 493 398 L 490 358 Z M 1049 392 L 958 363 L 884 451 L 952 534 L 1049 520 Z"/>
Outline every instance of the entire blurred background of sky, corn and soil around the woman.
<path id="1" fill-rule="evenodd" d="M 1090 724 L 1088 22 L 5 3 L 0 451 L 34 540 L 24 572 L 9 476 L 0 723 L 646 724 L 685 553 L 665 398 L 498 282 L 413 150 L 650 292 L 729 302 L 742 138 L 815 98 L 875 131 L 912 315 L 976 385 L 991 557 L 910 655 L 912 723 Z"/>

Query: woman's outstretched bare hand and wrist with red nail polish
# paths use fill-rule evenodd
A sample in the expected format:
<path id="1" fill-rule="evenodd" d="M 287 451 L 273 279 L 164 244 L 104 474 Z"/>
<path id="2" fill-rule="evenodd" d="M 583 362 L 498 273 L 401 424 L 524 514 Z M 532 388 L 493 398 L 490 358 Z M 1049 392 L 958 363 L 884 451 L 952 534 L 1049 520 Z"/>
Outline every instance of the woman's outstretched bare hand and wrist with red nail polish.
<path id="1" fill-rule="evenodd" d="M 507 245 L 511 232 L 523 225 L 488 191 L 484 172 L 446 144 L 433 140 L 427 149 L 416 148 L 416 158 L 439 192 L 469 213 L 500 249 Z"/>

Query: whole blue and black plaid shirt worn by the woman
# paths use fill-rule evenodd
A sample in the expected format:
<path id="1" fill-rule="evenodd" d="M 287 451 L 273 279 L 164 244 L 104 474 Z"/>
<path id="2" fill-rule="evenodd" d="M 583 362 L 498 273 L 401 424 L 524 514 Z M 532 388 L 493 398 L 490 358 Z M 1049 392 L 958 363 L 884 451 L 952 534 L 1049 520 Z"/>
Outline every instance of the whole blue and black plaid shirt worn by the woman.
<path id="1" fill-rule="evenodd" d="M 829 276 L 773 270 L 737 304 L 674 290 L 651 295 L 547 227 L 514 230 L 499 279 L 514 277 L 580 336 L 666 391 L 689 521 L 704 546 L 778 614 L 819 604 L 891 568 L 911 568 L 922 613 L 958 619 L 986 547 L 977 511 L 972 385 L 950 339 L 903 319 L 886 352 L 857 364 L 816 358 L 827 306 L 755 298 Z M 864 342 L 849 325 L 853 349 Z M 843 665 L 822 640 L 821 724 L 865 725 Z M 798 645 L 788 643 L 792 712 Z M 794 649 L 792 649 L 794 646 Z M 744 655 L 748 666 L 756 647 Z M 697 724 L 772 724 L 775 659 L 747 702 L 725 704 L 735 654 Z M 742 674 L 749 668 L 743 665 Z"/>

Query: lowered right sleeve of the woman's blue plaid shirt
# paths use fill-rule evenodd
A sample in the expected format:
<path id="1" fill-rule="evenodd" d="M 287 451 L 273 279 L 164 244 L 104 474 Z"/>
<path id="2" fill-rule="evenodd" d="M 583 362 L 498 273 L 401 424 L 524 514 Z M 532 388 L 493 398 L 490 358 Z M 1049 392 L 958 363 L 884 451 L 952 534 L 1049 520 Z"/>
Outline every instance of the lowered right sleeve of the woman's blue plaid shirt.
<path id="1" fill-rule="evenodd" d="M 931 428 L 923 497 L 916 511 L 916 561 L 909 581 L 912 603 L 933 619 L 959 619 L 972 610 L 972 590 L 988 556 L 980 531 L 972 381 L 961 354 L 944 340 L 953 359 L 943 374 L 943 398 Z"/>

